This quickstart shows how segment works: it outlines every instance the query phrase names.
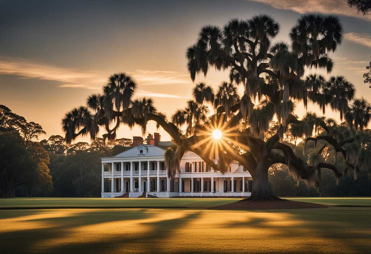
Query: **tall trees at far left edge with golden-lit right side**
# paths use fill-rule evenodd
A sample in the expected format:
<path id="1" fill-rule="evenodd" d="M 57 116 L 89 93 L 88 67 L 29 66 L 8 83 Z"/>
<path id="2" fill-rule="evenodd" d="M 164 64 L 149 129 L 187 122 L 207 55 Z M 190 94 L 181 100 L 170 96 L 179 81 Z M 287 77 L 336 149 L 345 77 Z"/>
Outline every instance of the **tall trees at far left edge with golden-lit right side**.
<path id="1" fill-rule="evenodd" d="M 36 142 L 45 131 L 40 124 L 27 122 L 9 108 L 0 105 L 0 195 L 11 198 L 18 186 L 26 186 L 27 195 L 35 190 L 47 195 L 53 189 L 49 154 Z"/>

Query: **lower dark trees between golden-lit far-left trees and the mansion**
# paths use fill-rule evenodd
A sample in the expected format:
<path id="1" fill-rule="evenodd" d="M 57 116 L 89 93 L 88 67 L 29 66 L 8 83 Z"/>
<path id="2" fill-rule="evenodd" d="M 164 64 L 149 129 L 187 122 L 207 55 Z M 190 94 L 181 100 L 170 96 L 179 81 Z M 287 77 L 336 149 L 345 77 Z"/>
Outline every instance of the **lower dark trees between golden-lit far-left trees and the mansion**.
<path id="1" fill-rule="evenodd" d="M 40 141 L 50 156 L 50 175 L 53 177 L 55 197 L 100 197 L 101 159 L 121 153 L 132 145 L 130 139 L 118 139 L 105 145 L 97 138 L 91 144 L 79 142 L 66 146 L 61 136 Z"/>

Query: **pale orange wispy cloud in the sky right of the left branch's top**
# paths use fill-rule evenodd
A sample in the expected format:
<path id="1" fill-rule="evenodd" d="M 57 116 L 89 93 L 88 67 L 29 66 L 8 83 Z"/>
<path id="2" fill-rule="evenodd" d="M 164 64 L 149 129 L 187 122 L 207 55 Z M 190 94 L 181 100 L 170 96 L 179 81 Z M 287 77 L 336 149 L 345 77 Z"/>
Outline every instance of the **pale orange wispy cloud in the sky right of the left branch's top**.
<path id="1" fill-rule="evenodd" d="M 135 70 L 134 78 L 141 85 L 190 84 L 190 76 L 175 71 Z"/>

